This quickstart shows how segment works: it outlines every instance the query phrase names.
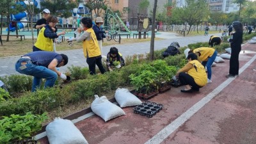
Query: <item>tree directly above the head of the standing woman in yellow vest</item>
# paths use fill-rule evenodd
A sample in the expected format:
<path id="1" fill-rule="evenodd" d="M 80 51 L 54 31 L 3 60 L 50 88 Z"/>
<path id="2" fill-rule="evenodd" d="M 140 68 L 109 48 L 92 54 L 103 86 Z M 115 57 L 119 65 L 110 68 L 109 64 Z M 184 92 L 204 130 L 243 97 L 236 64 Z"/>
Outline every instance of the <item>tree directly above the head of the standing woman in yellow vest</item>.
<path id="1" fill-rule="evenodd" d="M 92 18 L 93 11 L 95 12 L 96 16 L 99 16 L 101 10 L 107 10 L 108 6 L 106 4 L 106 0 L 89 0 L 84 6 L 89 8 Z"/>

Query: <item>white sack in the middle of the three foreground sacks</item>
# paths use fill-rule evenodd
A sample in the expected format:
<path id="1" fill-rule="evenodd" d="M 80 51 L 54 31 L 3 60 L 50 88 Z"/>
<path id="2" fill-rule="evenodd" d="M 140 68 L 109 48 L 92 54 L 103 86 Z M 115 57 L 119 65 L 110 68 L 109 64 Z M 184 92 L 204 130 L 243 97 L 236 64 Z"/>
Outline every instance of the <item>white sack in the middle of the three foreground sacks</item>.
<path id="1" fill-rule="evenodd" d="M 109 102 L 106 96 L 99 97 L 98 95 L 95 95 L 95 100 L 92 102 L 91 109 L 93 113 L 103 118 L 105 122 L 112 118 L 116 118 L 117 116 L 125 115 L 123 109 L 112 102 Z"/>

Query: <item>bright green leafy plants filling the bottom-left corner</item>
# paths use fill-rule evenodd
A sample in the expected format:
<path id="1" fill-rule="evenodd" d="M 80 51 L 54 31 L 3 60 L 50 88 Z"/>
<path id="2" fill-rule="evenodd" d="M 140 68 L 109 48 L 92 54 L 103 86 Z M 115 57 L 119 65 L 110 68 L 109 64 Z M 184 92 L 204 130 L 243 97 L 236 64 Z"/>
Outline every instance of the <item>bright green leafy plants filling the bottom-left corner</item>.
<path id="1" fill-rule="evenodd" d="M 0 120 L 0 143 L 36 143 L 33 136 L 41 130 L 42 122 L 47 118 L 47 113 L 33 115 L 31 112 L 24 116 L 3 116 Z"/>

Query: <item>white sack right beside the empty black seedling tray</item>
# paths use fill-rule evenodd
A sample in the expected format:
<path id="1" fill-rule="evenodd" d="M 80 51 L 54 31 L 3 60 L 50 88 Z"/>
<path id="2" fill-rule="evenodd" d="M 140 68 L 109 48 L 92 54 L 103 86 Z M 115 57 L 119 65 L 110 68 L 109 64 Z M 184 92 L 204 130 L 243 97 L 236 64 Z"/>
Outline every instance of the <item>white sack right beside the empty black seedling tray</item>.
<path id="1" fill-rule="evenodd" d="M 115 93 L 115 99 L 121 108 L 127 106 L 137 106 L 142 103 L 141 100 L 130 93 L 127 88 L 118 88 Z"/>

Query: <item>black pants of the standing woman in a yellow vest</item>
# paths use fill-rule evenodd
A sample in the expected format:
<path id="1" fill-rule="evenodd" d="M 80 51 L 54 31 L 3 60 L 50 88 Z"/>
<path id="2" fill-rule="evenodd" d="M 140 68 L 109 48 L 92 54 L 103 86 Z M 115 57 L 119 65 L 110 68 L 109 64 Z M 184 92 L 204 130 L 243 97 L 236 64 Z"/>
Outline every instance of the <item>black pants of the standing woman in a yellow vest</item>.
<path id="1" fill-rule="evenodd" d="M 101 56 L 86 58 L 86 63 L 89 65 L 90 74 L 92 75 L 96 74 L 96 65 L 99 67 L 101 74 L 104 74 L 106 72 L 101 62 Z"/>

